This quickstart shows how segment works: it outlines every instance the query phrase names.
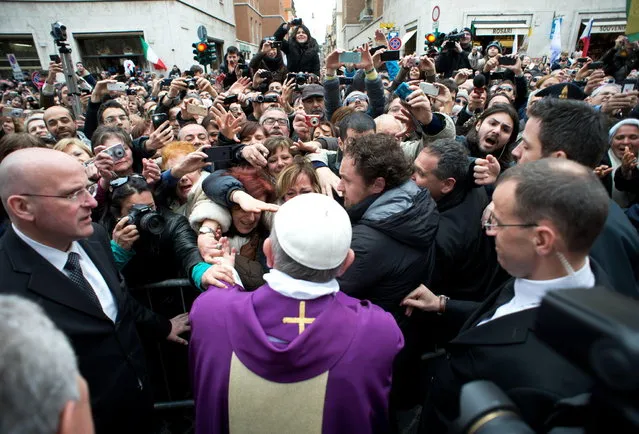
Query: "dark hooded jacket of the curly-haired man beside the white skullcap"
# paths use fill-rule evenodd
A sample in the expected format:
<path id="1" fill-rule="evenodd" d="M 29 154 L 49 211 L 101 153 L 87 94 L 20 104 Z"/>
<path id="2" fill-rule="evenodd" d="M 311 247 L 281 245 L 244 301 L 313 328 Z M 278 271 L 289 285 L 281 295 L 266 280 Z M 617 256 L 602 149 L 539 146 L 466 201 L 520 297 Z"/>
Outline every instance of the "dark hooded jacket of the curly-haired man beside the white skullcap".
<path id="1" fill-rule="evenodd" d="M 437 205 L 426 189 L 408 180 L 348 210 L 355 261 L 337 280 L 351 297 L 370 300 L 402 327 L 399 304 L 433 271 Z"/>

